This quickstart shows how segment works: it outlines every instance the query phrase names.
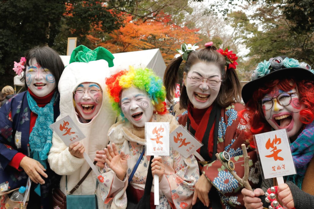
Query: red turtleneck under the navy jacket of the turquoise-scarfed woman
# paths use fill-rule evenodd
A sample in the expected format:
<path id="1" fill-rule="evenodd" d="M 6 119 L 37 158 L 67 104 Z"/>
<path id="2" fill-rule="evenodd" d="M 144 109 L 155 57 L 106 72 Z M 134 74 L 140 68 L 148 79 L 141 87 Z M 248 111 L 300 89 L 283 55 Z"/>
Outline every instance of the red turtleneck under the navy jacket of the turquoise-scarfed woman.
<path id="1" fill-rule="evenodd" d="M 34 98 L 38 107 L 45 107 L 45 105 L 51 101 L 51 98 L 52 98 L 53 93 L 55 91 L 51 91 L 51 93 L 49 93 L 48 95 L 46 95 L 44 97 L 36 96 L 32 91 L 30 91 L 29 88 L 28 88 L 28 92 L 30 92 L 30 95 Z M 30 133 L 32 132 L 32 130 L 35 126 L 36 119 L 37 119 L 37 115 L 34 112 L 30 111 Z M 19 168 L 19 164 L 20 164 L 22 158 L 24 158 L 25 156 L 26 155 L 24 155 L 21 152 L 16 153 L 8 165 L 14 167 L 17 170 L 22 170 L 21 168 Z"/>

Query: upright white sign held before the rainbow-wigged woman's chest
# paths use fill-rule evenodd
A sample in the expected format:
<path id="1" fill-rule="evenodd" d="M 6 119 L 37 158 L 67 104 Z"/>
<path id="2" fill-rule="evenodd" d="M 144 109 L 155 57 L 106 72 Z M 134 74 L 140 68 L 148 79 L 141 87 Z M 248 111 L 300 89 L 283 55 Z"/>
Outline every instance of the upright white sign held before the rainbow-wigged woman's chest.
<path id="1" fill-rule="evenodd" d="M 146 122 L 146 155 L 169 155 L 169 123 Z"/>

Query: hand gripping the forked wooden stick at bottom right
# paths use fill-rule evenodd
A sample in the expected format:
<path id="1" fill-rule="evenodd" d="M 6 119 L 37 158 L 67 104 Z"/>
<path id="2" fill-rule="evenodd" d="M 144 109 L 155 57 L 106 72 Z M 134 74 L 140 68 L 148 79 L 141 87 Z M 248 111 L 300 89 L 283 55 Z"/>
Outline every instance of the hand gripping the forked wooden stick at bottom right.
<path id="1" fill-rule="evenodd" d="M 263 209 L 263 202 L 258 196 L 264 195 L 264 192 L 261 188 L 255 189 L 253 192 L 243 188 L 241 190 L 244 201 L 244 206 L 246 209 Z"/>

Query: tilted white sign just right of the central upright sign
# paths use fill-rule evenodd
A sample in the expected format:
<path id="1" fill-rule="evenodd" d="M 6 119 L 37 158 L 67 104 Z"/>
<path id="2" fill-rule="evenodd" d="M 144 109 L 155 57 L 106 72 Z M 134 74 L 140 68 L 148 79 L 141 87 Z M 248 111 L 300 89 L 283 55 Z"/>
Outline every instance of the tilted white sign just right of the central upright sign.
<path id="1" fill-rule="evenodd" d="M 178 126 L 178 128 L 170 133 L 170 145 L 185 158 L 188 158 L 203 146 L 203 144 L 194 138 L 182 125 Z"/>

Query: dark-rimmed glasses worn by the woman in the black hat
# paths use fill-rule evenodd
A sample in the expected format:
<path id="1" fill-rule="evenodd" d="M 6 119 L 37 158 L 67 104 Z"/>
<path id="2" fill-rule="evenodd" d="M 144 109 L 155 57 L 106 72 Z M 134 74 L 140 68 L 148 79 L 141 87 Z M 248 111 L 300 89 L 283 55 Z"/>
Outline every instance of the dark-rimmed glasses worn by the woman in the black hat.
<path id="1" fill-rule="evenodd" d="M 270 110 L 274 105 L 274 102 L 273 102 L 274 99 L 277 100 L 279 105 L 288 106 L 291 103 L 292 97 L 295 97 L 297 95 L 298 95 L 297 92 L 291 92 L 291 93 L 284 92 L 284 93 L 279 94 L 277 97 L 273 97 L 273 98 L 264 97 L 261 100 L 261 106 L 263 110 Z"/>

